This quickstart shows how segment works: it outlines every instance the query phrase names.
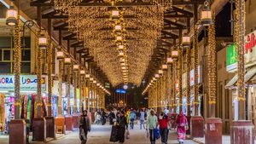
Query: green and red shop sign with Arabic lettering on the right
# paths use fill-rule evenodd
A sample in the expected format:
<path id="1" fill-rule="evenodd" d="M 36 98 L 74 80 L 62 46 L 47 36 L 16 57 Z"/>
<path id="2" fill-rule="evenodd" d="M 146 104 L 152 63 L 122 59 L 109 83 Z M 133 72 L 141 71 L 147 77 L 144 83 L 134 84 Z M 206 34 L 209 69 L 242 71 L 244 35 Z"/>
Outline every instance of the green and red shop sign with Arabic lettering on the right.
<path id="1" fill-rule="evenodd" d="M 245 67 L 256 65 L 256 31 L 247 34 L 244 44 Z M 227 48 L 227 72 L 237 70 L 237 46 L 230 44 Z"/>

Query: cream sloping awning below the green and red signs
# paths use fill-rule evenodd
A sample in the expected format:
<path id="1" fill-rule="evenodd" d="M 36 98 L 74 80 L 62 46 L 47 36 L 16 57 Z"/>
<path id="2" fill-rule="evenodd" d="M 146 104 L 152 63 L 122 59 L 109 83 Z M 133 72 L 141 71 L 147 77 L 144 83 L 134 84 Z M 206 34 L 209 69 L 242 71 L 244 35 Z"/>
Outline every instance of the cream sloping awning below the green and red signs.
<path id="1" fill-rule="evenodd" d="M 256 75 L 256 66 L 253 66 L 251 69 L 249 69 L 245 76 L 244 81 L 247 83 L 249 80 L 251 80 Z M 234 87 L 238 79 L 238 75 L 236 73 L 235 77 L 233 77 L 228 84 L 226 84 L 226 88 Z"/>

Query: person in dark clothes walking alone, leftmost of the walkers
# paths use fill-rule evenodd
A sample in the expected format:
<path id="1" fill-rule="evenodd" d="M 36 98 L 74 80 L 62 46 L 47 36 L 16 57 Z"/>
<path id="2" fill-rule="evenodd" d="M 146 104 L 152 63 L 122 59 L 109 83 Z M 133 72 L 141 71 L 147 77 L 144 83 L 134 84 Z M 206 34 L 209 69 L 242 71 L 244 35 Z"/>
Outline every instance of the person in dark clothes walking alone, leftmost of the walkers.
<path id="1" fill-rule="evenodd" d="M 84 110 L 79 124 L 79 137 L 81 144 L 86 143 L 88 131 L 90 132 L 90 118 L 87 116 L 87 110 Z"/>

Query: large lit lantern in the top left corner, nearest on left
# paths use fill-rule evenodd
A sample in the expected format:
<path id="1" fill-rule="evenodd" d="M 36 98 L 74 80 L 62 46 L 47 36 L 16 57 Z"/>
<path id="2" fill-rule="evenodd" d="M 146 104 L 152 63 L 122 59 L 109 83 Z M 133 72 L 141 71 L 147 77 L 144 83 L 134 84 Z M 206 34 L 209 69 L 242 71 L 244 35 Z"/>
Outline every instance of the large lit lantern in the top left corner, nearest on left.
<path id="1" fill-rule="evenodd" d="M 18 25 L 18 12 L 14 6 L 10 6 L 6 11 L 6 25 L 17 26 Z"/>

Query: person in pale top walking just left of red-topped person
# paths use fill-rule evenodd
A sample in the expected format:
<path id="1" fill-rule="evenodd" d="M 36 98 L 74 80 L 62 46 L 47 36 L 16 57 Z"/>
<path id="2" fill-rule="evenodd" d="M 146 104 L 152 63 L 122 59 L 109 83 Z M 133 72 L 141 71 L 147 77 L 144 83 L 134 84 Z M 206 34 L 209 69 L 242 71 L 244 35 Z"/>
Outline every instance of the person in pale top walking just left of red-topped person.
<path id="1" fill-rule="evenodd" d="M 156 129 L 157 126 L 157 117 L 154 114 L 154 110 L 150 110 L 150 114 L 147 118 L 147 132 L 149 130 L 149 138 L 151 144 L 155 144 L 155 137 L 154 137 L 154 129 Z"/>

